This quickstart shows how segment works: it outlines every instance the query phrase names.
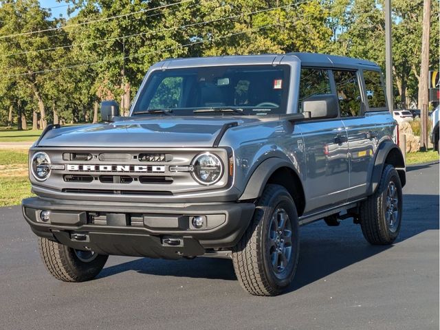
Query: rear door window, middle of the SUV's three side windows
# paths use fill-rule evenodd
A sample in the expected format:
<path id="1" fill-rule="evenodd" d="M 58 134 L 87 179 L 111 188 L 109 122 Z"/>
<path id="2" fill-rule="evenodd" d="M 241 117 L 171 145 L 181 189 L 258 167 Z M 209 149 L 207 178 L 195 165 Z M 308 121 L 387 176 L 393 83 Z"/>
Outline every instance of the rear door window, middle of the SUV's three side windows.
<path id="1" fill-rule="evenodd" d="M 341 117 L 355 117 L 362 114 L 362 99 L 358 76 L 354 71 L 333 71 L 338 93 Z"/>

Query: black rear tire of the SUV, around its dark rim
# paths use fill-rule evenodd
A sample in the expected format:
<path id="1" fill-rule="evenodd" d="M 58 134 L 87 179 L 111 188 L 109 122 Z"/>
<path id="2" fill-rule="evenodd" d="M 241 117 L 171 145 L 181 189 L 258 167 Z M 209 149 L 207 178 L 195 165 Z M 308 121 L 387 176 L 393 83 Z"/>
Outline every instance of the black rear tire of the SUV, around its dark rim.
<path id="1" fill-rule="evenodd" d="M 397 226 L 392 230 L 386 220 L 386 194 L 388 184 L 393 182 L 397 188 L 398 215 Z M 366 241 L 373 245 L 388 245 L 393 243 L 399 235 L 402 215 L 402 192 L 399 174 L 393 165 L 386 164 L 382 171 L 380 184 L 375 193 L 363 201 L 360 206 L 360 225 Z"/>

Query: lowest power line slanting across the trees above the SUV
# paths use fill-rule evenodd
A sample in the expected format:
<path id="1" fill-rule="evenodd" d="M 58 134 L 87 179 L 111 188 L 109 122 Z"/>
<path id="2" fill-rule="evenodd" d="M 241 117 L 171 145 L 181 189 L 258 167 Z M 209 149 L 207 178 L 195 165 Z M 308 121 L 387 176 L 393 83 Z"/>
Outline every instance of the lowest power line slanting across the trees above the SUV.
<path id="1" fill-rule="evenodd" d="M 311 0 L 309 0 L 309 1 L 311 1 Z M 300 2 L 298 4 L 307 3 L 309 1 L 303 1 L 303 2 Z M 98 64 L 101 64 L 101 63 L 107 63 L 107 62 L 111 62 L 111 61 L 120 61 L 120 60 L 125 60 L 127 58 L 135 58 L 135 57 L 146 56 L 146 55 L 150 55 L 150 54 L 156 54 L 156 53 L 159 53 L 159 52 L 166 52 L 166 51 L 169 51 L 169 50 L 177 50 L 177 49 L 180 49 L 180 48 L 190 47 L 190 46 L 193 46 L 193 45 L 199 45 L 199 44 L 202 44 L 202 43 L 208 43 L 208 42 L 212 42 L 212 41 L 218 41 L 218 40 L 221 40 L 221 39 L 230 38 L 231 36 L 237 36 L 239 34 L 244 34 L 244 33 L 248 33 L 248 32 L 254 32 L 254 31 L 263 30 L 265 28 L 270 28 L 270 27 L 276 26 L 276 25 L 284 25 L 284 24 L 292 22 L 292 21 L 294 21 L 294 19 L 289 19 L 289 20 L 286 20 L 284 22 L 279 22 L 279 23 L 266 24 L 266 25 L 262 25 L 259 28 L 251 28 L 251 29 L 248 29 L 248 30 L 243 30 L 241 32 L 234 32 L 232 34 L 227 34 L 225 36 L 219 36 L 217 38 L 206 39 L 206 40 L 202 40 L 202 41 L 195 41 L 193 43 L 187 43 L 187 44 L 184 44 L 184 45 L 178 45 L 178 46 L 174 46 L 174 47 L 163 48 L 163 49 L 160 49 L 160 50 L 154 50 L 152 52 L 140 53 L 140 54 L 135 54 L 135 55 L 131 55 L 131 56 L 124 56 L 122 58 L 111 58 L 111 59 L 108 59 L 108 60 L 96 61 L 96 62 L 92 62 L 92 63 L 80 63 L 80 64 L 77 64 L 77 65 L 70 65 L 70 66 L 66 66 L 66 67 L 57 67 L 57 68 L 54 68 L 54 69 L 45 69 L 45 70 L 40 70 L 40 71 L 36 71 L 36 72 L 26 72 L 24 74 L 12 74 L 12 75 L 9 75 L 9 76 L 4 76 L 4 77 L 5 78 L 12 78 L 12 77 L 16 77 L 16 76 L 29 76 L 29 75 L 32 75 L 32 74 L 47 74 L 47 73 L 50 73 L 50 72 L 62 71 L 64 69 L 75 69 L 77 67 L 87 67 L 87 66 L 98 65 Z"/>

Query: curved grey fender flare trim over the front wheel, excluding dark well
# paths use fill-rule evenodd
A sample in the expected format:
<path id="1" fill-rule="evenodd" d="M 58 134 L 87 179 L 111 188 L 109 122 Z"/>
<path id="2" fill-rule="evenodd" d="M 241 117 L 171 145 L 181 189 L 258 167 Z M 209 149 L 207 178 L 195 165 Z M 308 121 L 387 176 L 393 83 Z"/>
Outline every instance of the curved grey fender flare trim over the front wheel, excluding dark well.
<path id="1" fill-rule="evenodd" d="M 291 168 L 296 173 L 294 165 L 285 159 L 270 157 L 263 160 L 250 176 L 243 194 L 239 197 L 239 201 L 259 198 L 271 175 L 274 174 L 278 168 L 282 167 Z"/>

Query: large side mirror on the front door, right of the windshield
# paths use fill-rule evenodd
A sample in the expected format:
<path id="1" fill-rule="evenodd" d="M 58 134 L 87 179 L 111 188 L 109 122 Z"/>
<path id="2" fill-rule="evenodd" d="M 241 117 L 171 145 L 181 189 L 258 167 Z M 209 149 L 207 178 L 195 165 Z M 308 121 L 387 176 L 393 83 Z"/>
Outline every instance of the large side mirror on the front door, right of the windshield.
<path id="1" fill-rule="evenodd" d="M 336 118 L 338 98 L 334 94 L 310 96 L 303 101 L 303 112 L 309 112 L 310 118 Z"/>

